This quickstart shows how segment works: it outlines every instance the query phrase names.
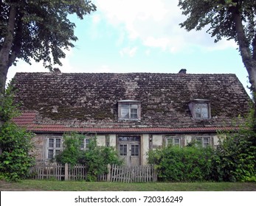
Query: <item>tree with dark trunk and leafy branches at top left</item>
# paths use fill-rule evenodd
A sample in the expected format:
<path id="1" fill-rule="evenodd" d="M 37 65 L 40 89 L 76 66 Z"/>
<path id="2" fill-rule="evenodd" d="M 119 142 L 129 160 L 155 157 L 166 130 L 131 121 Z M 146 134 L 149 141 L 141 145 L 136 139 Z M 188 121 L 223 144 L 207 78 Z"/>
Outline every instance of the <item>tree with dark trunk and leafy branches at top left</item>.
<path id="1" fill-rule="evenodd" d="M 63 50 L 74 47 L 72 41 L 77 40 L 69 15 L 83 19 L 95 10 L 89 0 L 0 1 L 0 107 L 10 66 L 18 59 L 43 61 L 50 70 L 54 64 L 61 65 Z"/>

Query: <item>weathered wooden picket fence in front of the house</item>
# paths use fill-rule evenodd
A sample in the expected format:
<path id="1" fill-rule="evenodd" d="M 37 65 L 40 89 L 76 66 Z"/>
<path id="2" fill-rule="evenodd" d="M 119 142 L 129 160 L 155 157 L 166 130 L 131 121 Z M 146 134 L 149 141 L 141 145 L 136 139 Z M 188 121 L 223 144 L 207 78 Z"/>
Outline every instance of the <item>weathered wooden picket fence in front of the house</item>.
<path id="1" fill-rule="evenodd" d="M 70 166 L 58 163 L 38 163 L 31 168 L 31 176 L 36 180 L 86 180 L 86 167 L 80 164 Z M 157 180 L 153 165 L 147 166 L 110 166 L 108 173 L 97 177 L 97 181 L 108 182 L 153 182 Z"/>

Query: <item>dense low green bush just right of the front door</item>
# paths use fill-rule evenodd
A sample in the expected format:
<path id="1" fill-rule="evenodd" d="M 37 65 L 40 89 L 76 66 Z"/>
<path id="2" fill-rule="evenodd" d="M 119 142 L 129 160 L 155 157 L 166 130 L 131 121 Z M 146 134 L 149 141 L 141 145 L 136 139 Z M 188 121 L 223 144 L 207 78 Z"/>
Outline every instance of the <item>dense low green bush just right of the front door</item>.
<path id="1" fill-rule="evenodd" d="M 213 149 L 198 146 L 168 146 L 148 154 L 148 163 L 155 164 L 159 180 L 191 182 L 210 180 Z"/>

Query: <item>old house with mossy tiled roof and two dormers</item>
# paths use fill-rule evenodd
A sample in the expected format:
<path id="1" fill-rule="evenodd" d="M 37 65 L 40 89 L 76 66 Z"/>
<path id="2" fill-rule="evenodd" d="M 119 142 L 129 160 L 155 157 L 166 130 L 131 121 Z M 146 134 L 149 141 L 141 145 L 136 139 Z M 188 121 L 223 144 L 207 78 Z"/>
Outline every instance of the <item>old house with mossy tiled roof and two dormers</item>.
<path id="1" fill-rule="evenodd" d="M 249 112 L 249 96 L 235 74 L 17 73 L 16 124 L 34 132 L 38 160 L 62 149 L 65 132 L 92 135 L 114 146 L 128 166 L 168 143 L 218 144 L 218 130 L 234 129 Z"/>

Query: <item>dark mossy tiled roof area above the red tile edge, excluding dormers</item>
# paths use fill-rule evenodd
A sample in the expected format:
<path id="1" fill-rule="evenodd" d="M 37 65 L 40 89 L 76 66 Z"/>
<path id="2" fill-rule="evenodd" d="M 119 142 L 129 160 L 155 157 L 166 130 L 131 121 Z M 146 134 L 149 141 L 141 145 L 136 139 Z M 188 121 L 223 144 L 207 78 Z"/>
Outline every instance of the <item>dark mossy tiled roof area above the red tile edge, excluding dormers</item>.
<path id="1" fill-rule="evenodd" d="M 221 127 L 249 111 L 249 96 L 235 74 L 17 73 L 21 110 L 36 111 L 37 124 L 70 127 Z M 118 120 L 117 102 L 141 103 L 140 121 Z M 192 118 L 188 104 L 209 99 L 212 118 Z"/>

